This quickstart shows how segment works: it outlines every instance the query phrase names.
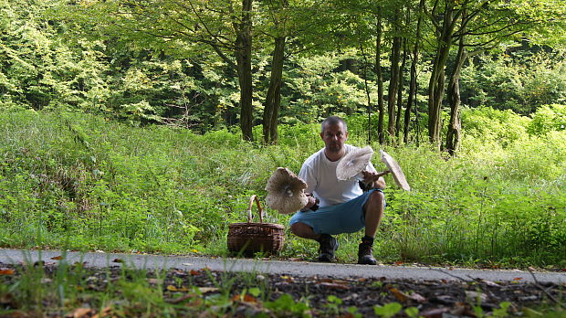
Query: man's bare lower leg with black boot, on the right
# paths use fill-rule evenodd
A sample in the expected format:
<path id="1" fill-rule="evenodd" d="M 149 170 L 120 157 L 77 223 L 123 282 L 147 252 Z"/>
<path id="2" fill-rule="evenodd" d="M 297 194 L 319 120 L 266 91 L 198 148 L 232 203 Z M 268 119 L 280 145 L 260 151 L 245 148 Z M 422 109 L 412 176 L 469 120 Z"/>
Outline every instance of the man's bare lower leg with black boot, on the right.
<path id="1" fill-rule="evenodd" d="M 384 200 L 383 192 L 376 190 L 370 194 L 368 201 L 363 207 L 365 214 L 365 237 L 362 238 L 362 243 L 358 249 L 358 264 L 377 264 L 377 260 L 373 258 L 373 238 L 382 222 Z"/>

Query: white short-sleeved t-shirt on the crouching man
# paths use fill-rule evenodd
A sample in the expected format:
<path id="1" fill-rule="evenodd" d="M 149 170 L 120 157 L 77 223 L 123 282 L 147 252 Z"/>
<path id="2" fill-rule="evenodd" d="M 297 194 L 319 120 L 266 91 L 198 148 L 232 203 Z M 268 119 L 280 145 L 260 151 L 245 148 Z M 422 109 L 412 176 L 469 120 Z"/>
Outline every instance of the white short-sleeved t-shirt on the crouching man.
<path id="1" fill-rule="evenodd" d="M 345 154 L 350 153 L 356 147 L 344 144 Z M 342 157 L 343 158 L 343 157 Z M 336 166 L 340 160 L 331 162 L 324 154 L 324 148 L 309 156 L 300 168 L 299 177 L 307 183 L 305 192 L 311 192 L 320 199 L 320 207 L 328 207 L 350 201 L 352 198 L 361 196 L 363 191 L 358 185 L 362 180 L 362 174 L 350 180 L 338 180 L 336 177 Z M 373 164 L 370 163 L 366 170 L 375 173 Z"/>

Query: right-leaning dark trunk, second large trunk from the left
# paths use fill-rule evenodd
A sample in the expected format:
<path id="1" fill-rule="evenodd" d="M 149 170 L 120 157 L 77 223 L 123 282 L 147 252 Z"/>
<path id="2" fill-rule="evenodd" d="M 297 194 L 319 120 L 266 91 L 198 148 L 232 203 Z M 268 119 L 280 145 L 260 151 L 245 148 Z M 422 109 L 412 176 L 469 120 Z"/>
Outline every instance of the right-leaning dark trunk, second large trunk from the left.
<path id="1" fill-rule="evenodd" d="M 275 39 L 273 60 L 271 62 L 271 77 L 267 89 L 266 103 L 263 113 L 263 140 L 264 143 L 278 143 L 278 116 L 281 105 L 281 81 L 283 62 L 285 60 L 286 37 Z"/>

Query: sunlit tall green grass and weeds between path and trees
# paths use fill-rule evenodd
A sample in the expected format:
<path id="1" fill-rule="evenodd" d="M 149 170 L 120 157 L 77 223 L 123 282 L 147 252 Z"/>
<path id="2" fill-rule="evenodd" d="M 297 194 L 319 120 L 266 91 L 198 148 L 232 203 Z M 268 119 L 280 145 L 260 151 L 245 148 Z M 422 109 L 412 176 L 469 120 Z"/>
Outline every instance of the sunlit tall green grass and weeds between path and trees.
<path id="1" fill-rule="evenodd" d="M 355 123 L 362 120 L 351 122 L 349 143 L 364 145 L 367 135 Z M 455 158 L 426 146 L 383 148 L 414 190 L 405 193 L 387 177 L 378 256 L 566 265 L 566 133 L 468 127 Z M 278 166 L 299 172 L 322 146 L 319 131 L 281 126 L 280 143 L 264 146 L 227 131 L 197 135 L 87 114 L 0 113 L 0 245 L 225 254 L 227 226 L 246 218 L 249 196 L 265 197 Z M 384 169 L 377 155 L 373 163 Z M 266 218 L 288 223 L 271 210 Z M 341 260 L 354 260 L 361 236 L 341 236 Z M 281 256 L 311 257 L 317 248 L 288 233 Z"/>

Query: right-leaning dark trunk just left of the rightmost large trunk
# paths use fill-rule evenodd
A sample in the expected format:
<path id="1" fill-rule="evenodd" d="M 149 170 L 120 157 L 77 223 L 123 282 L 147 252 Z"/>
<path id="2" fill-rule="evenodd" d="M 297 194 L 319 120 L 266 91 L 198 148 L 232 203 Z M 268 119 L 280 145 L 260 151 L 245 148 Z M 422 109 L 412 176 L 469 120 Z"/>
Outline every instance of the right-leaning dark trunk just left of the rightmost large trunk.
<path id="1" fill-rule="evenodd" d="M 433 71 L 428 84 L 428 137 L 431 143 L 440 149 L 442 131 L 442 99 L 445 88 L 445 65 L 450 52 L 452 34 L 455 26 L 454 3 L 446 2 L 444 21 L 437 31 L 438 48 L 436 49 Z"/>

